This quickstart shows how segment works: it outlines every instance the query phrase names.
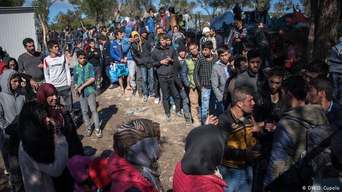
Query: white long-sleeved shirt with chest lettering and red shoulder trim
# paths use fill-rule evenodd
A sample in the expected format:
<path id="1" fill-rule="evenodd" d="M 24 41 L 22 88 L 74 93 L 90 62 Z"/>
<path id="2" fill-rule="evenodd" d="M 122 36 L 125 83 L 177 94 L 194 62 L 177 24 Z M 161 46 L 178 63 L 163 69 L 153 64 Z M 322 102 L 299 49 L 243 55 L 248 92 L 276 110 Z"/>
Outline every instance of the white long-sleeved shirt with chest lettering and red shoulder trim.
<path id="1" fill-rule="evenodd" d="M 71 75 L 69 64 L 64 55 L 58 55 L 52 58 L 48 56 L 44 58 L 44 77 L 47 83 L 53 84 L 55 87 L 71 86 Z"/>

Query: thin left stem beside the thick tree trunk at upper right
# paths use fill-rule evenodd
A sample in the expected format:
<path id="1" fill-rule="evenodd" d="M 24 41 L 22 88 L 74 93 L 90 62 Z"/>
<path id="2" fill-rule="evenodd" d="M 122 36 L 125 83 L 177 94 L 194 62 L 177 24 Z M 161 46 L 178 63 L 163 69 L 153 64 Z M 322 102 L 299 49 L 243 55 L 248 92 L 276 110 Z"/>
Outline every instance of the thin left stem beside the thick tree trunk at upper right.
<path id="1" fill-rule="evenodd" d="M 314 52 L 314 41 L 315 41 L 315 23 L 317 20 L 317 9 L 319 0 L 311 0 L 310 9 L 311 17 L 309 20 L 309 36 L 308 36 L 308 47 L 307 47 L 307 62 L 309 63 Z"/>

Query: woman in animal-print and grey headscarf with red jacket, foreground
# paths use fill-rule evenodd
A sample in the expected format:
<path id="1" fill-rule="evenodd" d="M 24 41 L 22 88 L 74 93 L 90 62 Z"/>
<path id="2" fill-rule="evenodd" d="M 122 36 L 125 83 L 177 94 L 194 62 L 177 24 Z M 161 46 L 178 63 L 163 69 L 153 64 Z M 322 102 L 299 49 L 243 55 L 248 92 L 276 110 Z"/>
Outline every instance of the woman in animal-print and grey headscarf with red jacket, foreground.
<path id="1" fill-rule="evenodd" d="M 125 122 L 114 134 L 108 159 L 112 192 L 164 192 L 159 176 L 159 123 L 149 119 Z"/>

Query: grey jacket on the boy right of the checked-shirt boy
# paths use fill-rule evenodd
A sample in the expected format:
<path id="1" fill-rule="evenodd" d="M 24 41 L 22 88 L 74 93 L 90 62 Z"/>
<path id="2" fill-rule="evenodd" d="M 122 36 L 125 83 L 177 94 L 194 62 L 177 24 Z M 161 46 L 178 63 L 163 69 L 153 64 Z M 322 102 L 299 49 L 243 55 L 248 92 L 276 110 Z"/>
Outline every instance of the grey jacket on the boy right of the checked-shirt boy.
<path id="1" fill-rule="evenodd" d="M 228 66 L 223 64 L 221 60 L 217 61 L 212 70 L 212 87 L 218 102 L 223 99 L 224 85 L 228 78 Z"/>

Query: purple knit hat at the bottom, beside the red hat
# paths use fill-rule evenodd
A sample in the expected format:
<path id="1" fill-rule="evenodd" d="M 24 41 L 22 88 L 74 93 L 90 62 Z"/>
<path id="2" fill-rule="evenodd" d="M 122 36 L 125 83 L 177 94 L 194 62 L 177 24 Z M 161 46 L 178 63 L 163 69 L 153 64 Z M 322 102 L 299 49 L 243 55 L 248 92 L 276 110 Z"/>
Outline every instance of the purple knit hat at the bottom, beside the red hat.
<path id="1" fill-rule="evenodd" d="M 71 157 L 66 163 L 71 176 L 77 183 L 82 183 L 89 177 L 89 173 L 87 173 L 86 169 L 91 161 L 91 158 L 77 154 Z"/>

